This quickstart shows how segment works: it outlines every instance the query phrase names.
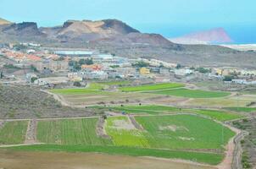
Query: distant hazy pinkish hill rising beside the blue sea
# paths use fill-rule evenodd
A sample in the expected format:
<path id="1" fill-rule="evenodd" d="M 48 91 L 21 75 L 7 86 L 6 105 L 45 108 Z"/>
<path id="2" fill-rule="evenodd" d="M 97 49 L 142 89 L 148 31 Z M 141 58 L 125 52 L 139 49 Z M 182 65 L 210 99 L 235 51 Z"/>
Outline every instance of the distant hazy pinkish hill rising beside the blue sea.
<path id="1" fill-rule="evenodd" d="M 232 42 L 231 37 L 223 28 L 193 32 L 188 35 L 172 38 L 170 41 L 179 44 L 211 44 Z"/>

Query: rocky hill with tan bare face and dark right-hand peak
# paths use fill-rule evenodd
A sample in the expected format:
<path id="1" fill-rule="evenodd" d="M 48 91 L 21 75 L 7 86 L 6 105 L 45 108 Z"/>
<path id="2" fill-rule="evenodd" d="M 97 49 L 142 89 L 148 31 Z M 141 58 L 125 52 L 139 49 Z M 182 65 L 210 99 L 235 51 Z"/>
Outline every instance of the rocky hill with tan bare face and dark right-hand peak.
<path id="1" fill-rule="evenodd" d="M 95 41 L 129 33 L 139 33 L 138 30 L 116 19 L 106 20 L 68 20 L 63 26 L 41 28 L 48 38 L 58 41 Z"/>

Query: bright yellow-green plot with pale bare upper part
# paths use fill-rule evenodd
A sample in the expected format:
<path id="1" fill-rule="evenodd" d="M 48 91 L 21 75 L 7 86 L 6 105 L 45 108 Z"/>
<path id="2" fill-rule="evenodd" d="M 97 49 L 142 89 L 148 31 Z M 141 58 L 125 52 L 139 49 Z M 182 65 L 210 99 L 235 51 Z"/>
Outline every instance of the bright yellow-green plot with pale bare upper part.
<path id="1" fill-rule="evenodd" d="M 106 132 L 117 146 L 148 147 L 144 132 L 133 128 L 127 117 L 109 117 Z"/>

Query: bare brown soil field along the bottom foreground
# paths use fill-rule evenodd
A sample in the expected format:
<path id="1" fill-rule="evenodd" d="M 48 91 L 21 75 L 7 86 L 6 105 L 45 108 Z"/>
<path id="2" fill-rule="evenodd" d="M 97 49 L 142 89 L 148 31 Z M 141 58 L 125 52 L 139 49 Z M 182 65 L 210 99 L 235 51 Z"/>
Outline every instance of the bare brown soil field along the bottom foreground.
<path id="1" fill-rule="evenodd" d="M 0 168 L 8 169 L 214 169 L 183 161 L 96 153 L 14 152 L 0 150 Z"/>

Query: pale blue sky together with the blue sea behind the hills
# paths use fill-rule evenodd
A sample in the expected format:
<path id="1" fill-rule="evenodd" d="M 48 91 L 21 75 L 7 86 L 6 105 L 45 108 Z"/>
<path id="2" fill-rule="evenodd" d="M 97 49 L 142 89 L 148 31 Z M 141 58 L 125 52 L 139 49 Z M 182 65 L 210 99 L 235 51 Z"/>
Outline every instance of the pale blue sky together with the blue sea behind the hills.
<path id="1" fill-rule="evenodd" d="M 0 0 L 0 7 L 0 18 L 39 26 L 120 19 L 165 37 L 223 27 L 237 43 L 256 43 L 255 0 Z"/>

